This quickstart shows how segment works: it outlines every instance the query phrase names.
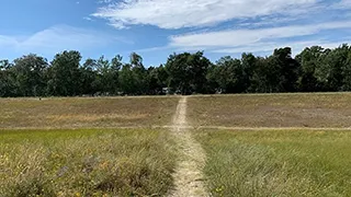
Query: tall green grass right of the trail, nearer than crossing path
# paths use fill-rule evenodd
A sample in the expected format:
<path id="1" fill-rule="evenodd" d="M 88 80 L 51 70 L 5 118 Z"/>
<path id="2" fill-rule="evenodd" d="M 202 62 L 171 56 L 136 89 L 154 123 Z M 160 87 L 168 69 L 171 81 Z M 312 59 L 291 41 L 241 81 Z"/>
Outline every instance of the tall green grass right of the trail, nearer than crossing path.
<path id="1" fill-rule="evenodd" d="M 349 131 L 199 131 L 213 196 L 349 196 Z"/>

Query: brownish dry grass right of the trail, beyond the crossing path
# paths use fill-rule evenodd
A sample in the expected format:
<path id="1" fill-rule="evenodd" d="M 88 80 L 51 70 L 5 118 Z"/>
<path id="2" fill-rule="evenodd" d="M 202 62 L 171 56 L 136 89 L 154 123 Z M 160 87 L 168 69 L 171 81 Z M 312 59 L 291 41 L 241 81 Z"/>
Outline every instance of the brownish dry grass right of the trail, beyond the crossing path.
<path id="1" fill-rule="evenodd" d="M 247 94 L 191 96 L 193 126 L 351 127 L 351 94 Z"/>

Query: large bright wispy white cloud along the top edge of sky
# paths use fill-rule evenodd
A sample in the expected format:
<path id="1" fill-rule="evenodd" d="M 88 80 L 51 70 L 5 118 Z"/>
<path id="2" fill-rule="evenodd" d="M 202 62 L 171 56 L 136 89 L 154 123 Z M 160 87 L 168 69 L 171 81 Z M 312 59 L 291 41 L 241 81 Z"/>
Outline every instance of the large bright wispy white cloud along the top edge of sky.
<path id="1" fill-rule="evenodd" d="M 117 27 L 155 25 L 161 28 L 211 26 L 234 19 L 298 14 L 318 0 L 123 0 L 93 15 Z M 301 9 L 304 8 L 304 9 Z"/>

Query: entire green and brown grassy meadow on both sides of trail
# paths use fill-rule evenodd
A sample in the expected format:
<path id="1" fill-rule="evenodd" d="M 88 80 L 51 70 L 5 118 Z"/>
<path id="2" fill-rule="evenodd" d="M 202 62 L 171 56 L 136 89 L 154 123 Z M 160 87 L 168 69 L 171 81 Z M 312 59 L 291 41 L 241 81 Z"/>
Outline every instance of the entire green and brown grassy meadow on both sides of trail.
<path id="1" fill-rule="evenodd" d="M 351 194 L 350 93 L 180 99 L 1 99 L 0 196 L 169 196 L 200 148 L 208 196 Z"/>

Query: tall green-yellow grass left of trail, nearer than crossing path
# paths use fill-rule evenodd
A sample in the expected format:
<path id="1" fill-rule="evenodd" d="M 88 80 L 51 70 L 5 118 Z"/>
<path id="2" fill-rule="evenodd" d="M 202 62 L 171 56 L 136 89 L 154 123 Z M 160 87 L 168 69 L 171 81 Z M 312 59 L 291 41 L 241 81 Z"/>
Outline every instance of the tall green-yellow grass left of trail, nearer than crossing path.
<path id="1" fill-rule="evenodd" d="M 162 196 L 173 147 L 162 130 L 2 130 L 0 196 Z"/>

